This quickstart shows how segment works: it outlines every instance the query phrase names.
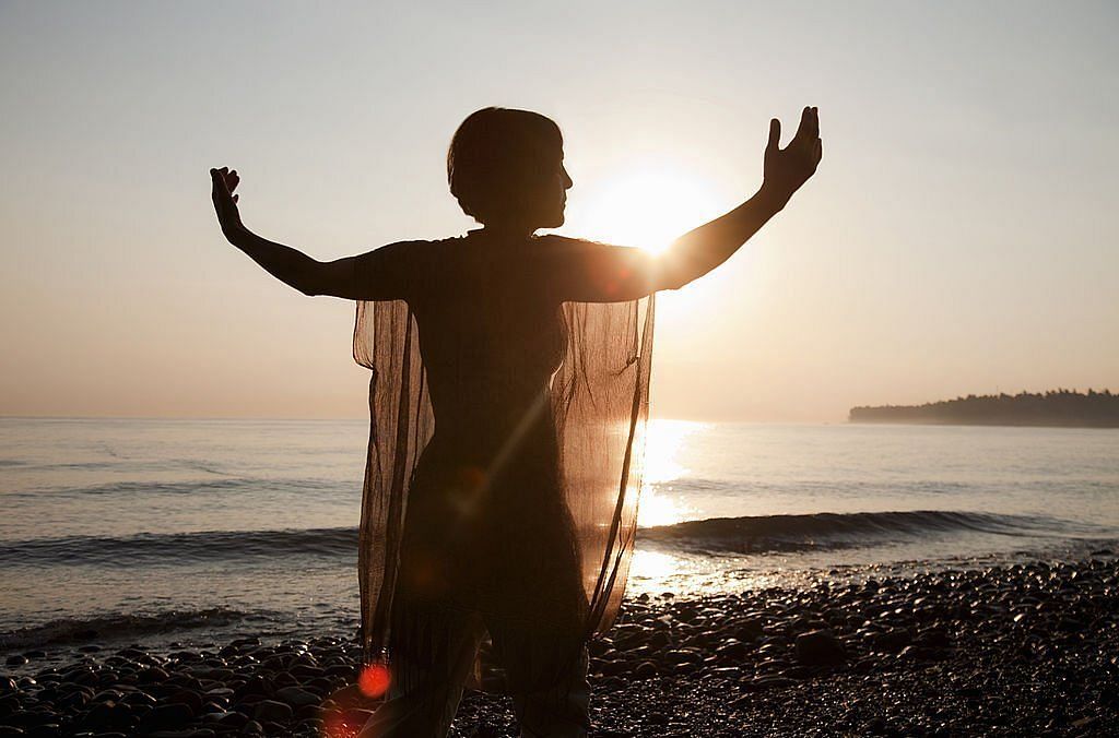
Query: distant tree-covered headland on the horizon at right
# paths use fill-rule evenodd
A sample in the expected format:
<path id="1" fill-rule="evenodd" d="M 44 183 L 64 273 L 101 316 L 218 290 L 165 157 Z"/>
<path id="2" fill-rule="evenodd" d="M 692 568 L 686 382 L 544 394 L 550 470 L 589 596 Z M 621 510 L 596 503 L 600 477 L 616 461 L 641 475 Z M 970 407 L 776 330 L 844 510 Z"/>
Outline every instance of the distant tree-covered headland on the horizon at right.
<path id="1" fill-rule="evenodd" d="M 1119 428 L 1119 394 L 1052 389 L 1017 395 L 968 395 L 924 405 L 853 407 L 852 423 L 1041 425 Z"/>

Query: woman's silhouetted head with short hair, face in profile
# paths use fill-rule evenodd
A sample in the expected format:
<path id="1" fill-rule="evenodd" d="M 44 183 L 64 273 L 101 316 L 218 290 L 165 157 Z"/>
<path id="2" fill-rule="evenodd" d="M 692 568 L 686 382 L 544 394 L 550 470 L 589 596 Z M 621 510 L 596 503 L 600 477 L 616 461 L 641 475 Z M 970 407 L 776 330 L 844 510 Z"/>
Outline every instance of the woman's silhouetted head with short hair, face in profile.
<path id="1" fill-rule="evenodd" d="M 478 223 L 529 230 L 563 225 L 572 186 L 560 126 L 505 107 L 485 107 L 462 122 L 446 152 L 446 179 Z"/>

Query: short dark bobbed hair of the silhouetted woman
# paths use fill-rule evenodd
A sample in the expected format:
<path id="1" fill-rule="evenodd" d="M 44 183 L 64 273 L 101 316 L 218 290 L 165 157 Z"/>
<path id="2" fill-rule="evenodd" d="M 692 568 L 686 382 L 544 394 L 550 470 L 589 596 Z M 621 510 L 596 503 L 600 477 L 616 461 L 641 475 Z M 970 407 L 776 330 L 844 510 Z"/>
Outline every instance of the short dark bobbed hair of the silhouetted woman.
<path id="1" fill-rule="evenodd" d="M 529 111 L 483 107 L 451 139 L 446 180 L 462 211 L 489 223 L 523 211 L 533 184 L 554 174 L 563 136 L 552 119 Z"/>

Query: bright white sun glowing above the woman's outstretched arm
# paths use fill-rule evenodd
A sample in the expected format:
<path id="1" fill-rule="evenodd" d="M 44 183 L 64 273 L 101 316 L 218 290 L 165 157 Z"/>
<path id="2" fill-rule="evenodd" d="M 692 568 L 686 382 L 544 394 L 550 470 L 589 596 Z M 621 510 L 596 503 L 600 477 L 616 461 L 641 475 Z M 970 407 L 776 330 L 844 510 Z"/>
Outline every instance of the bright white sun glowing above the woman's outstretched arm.
<path id="1" fill-rule="evenodd" d="M 647 161 L 587 184 L 580 235 L 660 254 L 674 240 L 711 220 L 715 198 L 703 180 L 669 162 Z"/>

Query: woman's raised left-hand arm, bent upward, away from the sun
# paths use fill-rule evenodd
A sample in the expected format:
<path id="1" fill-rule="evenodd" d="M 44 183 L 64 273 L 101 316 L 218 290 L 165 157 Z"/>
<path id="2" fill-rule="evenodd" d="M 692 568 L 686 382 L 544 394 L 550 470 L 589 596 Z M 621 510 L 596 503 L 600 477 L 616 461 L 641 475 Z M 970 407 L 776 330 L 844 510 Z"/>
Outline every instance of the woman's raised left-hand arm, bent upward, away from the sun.
<path id="1" fill-rule="evenodd" d="M 231 244 L 245 252 L 269 274 L 305 295 L 330 295 L 348 300 L 396 300 L 405 296 L 407 269 L 401 248 L 392 244 L 382 248 L 335 259 L 318 262 L 299 249 L 257 236 L 241 221 L 238 195 L 234 193 L 241 178 L 228 168 L 211 169 L 214 209 L 222 233 Z"/>

